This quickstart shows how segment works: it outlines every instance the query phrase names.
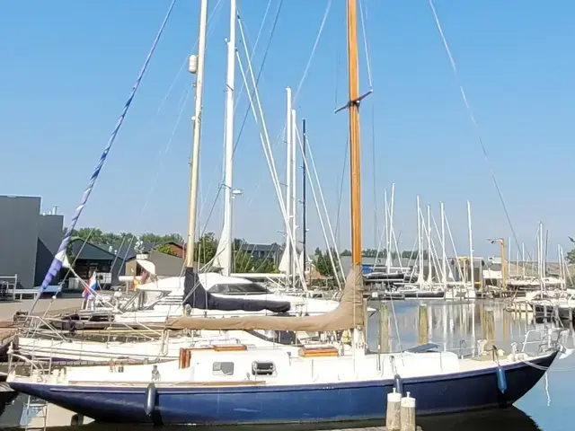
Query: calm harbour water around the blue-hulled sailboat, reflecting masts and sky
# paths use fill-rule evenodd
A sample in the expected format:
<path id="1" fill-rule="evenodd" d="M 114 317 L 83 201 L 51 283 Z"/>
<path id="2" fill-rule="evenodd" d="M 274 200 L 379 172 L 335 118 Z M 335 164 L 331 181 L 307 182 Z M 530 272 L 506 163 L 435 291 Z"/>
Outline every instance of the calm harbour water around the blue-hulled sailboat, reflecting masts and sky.
<path id="1" fill-rule="evenodd" d="M 426 304 L 426 312 L 420 311 L 420 303 Z M 388 305 L 391 317 L 390 343 L 394 351 L 401 347 L 407 348 L 420 344 L 424 338 L 427 327 L 427 339 L 447 349 L 467 348 L 467 351 L 475 346 L 476 339 L 487 337 L 486 331 L 489 321 L 486 315 L 494 316 L 495 321 L 495 344 L 509 351 L 512 342 L 522 343 L 526 332 L 534 329 L 542 329 L 550 323 L 535 323 L 526 319 L 525 314 L 505 312 L 502 303 L 489 301 L 476 301 L 475 303 L 446 303 L 438 300 L 429 301 L 398 301 L 394 305 Z M 486 313 L 487 312 L 487 313 Z M 427 320 L 427 325 L 422 325 L 422 320 Z M 378 315 L 375 314 L 369 321 L 369 346 L 376 350 L 378 339 Z M 567 347 L 573 347 L 572 326 L 570 336 L 567 339 Z M 462 341 L 463 340 L 463 341 Z M 534 346 L 536 349 L 536 347 Z M 526 396 L 517 401 L 517 409 L 496 409 L 492 411 L 476 412 L 465 415 L 451 415 L 447 418 L 420 418 L 418 425 L 424 431 L 439 430 L 466 430 L 466 431 L 559 431 L 571 429 L 571 415 L 566 414 L 571 409 L 571 394 L 575 388 L 575 353 L 562 360 L 556 360 L 552 369 L 548 372 L 548 379 L 541 382 Z M 13 406 L 16 409 L 16 406 Z M 6 409 L 3 416 L 9 415 L 11 407 Z M 16 412 L 13 412 L 16 413 Z M 378 423 L 346 424 L 345 427 L 376 427 L 383 426 Z M 89 424 L 84 427 L 57 427 L 53 429 L 93 429 L 102 431 L 111 430 L 137 430 L 137 429 L 162 429 L 175 430 L 184 427 L 142 427 L 142 426 L 116 426 L 104 424 Z M 190 428 L 190 427 L 187 427 Z M 196 427 L 198 428 L 198 427 Z M 227 429 L 218 427 L 217 429 Z M 288 429 L 322 429 L 320 427 L 233 427 L 250 430 L 288 430 Z M 51 429 L 51 428 L 49 428 Z M 214 429 L 214 428 L 210 428 Z M 323 428 L 325 429 L 325 428 Z"/>

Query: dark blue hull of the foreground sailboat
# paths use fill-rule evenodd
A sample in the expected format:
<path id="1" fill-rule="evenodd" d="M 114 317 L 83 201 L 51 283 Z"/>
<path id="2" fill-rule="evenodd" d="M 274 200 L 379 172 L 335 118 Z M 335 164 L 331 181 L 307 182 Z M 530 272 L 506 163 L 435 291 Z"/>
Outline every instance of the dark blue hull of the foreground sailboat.
<path id="1" fill-rule="evenodd" d="M 557 352 L 533 361 L 553 363 Z M 524 363 L 506 365 L 507 391 L 488 370 L 403 380 L 417 400 L 419 416 L 505 407 L 520 399 L 544 375 Z M 385 418 L 391 380 L 292 386 L 158 388 L 147 416 L 146 388 L 58 386 L 10 383 L 21 391 L 102 422 L 155 424 L 279 424 Z"/>

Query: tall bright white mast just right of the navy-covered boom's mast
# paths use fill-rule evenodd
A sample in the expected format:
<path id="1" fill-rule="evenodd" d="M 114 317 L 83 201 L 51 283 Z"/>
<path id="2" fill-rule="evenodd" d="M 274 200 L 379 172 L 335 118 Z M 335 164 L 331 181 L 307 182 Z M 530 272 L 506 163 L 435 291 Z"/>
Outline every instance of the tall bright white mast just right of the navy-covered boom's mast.
<path id="1" fill-rule="evenodd" d="M 235 0 L 230 0 L 230 38 L 227 41 L 226 73 L 226 173 L 224 177 L 224 227 L 217 244 L 215 264 L 222 273 L 232 273 L 232 211 L 233 211 L 233 169 L 234 169 L 234 81 L 235 81 Z"/>

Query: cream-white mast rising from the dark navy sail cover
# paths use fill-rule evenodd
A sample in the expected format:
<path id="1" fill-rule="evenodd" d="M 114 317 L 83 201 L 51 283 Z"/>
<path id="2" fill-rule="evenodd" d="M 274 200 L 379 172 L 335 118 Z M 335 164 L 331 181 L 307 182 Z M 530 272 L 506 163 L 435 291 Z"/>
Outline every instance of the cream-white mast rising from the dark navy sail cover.
<path id="1" fill-rule="evenodd" d="M 198 202 L 199 134 L 201 126 L 202 92 L 204 88 L 204 57 L 206 54 L 206 26 L 208 22 L 208 0 L 201 0 L 199 9 L 198 56 L 190 57 L 189 70 L 196 74 L 196 101 L 194 108 L 193 147 L 190 166 L 190 213 L 188 215 L 188 244 L 186 247 L 186 267 L 194 264 L 194 242 L 196 228 L 196 207 Z M 197 61 L 197 64 L 196 64 Z"/>

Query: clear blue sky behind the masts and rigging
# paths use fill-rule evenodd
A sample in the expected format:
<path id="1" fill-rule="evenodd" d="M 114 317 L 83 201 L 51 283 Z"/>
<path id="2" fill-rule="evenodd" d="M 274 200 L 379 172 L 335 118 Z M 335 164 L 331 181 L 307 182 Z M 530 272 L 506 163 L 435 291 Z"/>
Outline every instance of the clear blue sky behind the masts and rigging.
<path id="1" fill-rule="evenodd" d="M 58 205 L 69 221 L 168 4 L 168 0 L 0 4 L 0 193 L 41 196 L 45 210 Z M 219 233 L 221 202 L 209 220 L 208 212 L 221 180 L 228 6 L 226 0 L 217 10 L 217 0 L 209 4 L 201 223 Z M 253 44 L 268 2 L 238 4 Z M 256 67 L 278 4 L 279 0 L 271 1 L 254 55 Z M 295 89 L 299 83 L 326 5 L 323 0 L 286 0 L 282 6 L 260 84 L 273 141 L 283 127 L 285 87 Z M 364 247 L 375 246 L 374 185 L 383 225 L 384 189 L 394 181 L 395 229 L 402 231 L 404 249 L 411 249 L 415 237 L 419 193 L 422 202 L 433 206 L 437 219 L 438 201 L 445 201 L 460 254 L 467 247 L 469 198 L 475 251 L 497 251 L 483 239 L 508 237 L 509 224 L 428 2 L 363 0 L 363 5 L 375 88 L 362 105 Z M 555 244 L 568 247 L 566 235 L 575 233 L 569 180 L 574 159 L 575 60 L 570 53 L 575 4 L 438 0 L 436 7 L 519 241 L 532 249 L 542 220 L 550 229 L 554 257 Z M 191 77 L 185 68 L 179 71 L 194 49 L 198 12 L 198 1 L 176 4 L 80 225 L 116 232 L 184 233 L 193 98 L 181 110 Z M 343 104 L 347 92 L 344 25 L 344 2 L 335 0 L 296 101 L 299 118 L 308 121 L 333 223 L 347 140 L 347 114 L 333 114 L 336 94 Z M 360 53 L 361 89 L 367 91 L 363 45 Z M 240 80 L 238 73 L 238 89 Z M 243 95 L 236 131 L 246 106 Z M 283 178 L 285 145 L 276 146 L 276 156 Z M 343 183 L 341 247 L 347 247 L 347 172 Z M 235 157 L 234 185 L 244 190 L 234 208 L 235 236 L 250 242 L 281 242 L 279 206 L 251 116 Z M 311 198 L 308 207 L 309 241 L 313 247 L 323 246 Z M 517 250 L 515 245 L 513 249 Z"/>

